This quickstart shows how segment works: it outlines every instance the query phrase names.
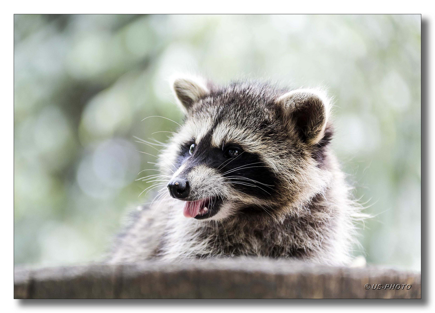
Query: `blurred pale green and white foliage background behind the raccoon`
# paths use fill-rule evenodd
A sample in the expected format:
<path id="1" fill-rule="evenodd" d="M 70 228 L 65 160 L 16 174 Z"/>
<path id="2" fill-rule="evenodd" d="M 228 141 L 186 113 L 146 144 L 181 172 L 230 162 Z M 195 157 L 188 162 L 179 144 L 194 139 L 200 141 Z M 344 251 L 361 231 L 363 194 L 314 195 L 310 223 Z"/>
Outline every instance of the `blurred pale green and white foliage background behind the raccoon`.
<path id="1" fill-rule="evenodd" d="M 335 151 L 374 217 L 368 263 L 420 270 L 421 23 L 407 15 L 15 15 L 14 260 L 100 260 L 181 113 L 167 78 L 326 86 Z M 154 134 L 153 134 L 154 133 Z"/>

